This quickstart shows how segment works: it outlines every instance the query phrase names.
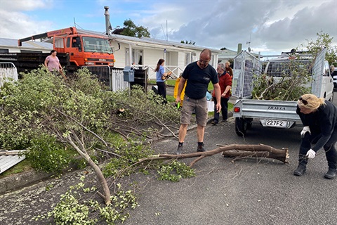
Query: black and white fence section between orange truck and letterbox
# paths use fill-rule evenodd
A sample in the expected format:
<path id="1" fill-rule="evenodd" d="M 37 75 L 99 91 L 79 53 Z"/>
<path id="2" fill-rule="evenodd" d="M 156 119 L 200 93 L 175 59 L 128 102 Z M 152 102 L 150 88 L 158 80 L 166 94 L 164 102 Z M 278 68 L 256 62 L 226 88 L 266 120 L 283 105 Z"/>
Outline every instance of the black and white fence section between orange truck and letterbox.
<path id="1" fill-rule="evenodd" d="M 84 66 L 98 77 L 100 82 L 108 86 L 110 91 L 124 91 L 130 89 L 130 83 L 124 82 L 123 69 L 110 68 L 110 66 Z"/>

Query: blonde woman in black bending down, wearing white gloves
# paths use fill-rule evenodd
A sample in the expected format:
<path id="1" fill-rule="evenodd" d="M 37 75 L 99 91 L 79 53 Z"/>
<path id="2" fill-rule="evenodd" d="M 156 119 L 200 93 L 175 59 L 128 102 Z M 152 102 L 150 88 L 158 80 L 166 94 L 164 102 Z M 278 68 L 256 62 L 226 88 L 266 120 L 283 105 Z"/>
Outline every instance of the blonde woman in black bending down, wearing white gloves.
<path id="1" fill-rule="evenodd" d="M 298 153 L 298 167 L 293 172 L 296 176 L 305 173 L 308 159 L 315 158 L 317 151 L 324 148 L 329 171 L 324 175 L 327 179 L 336 176 L 337 151 L 337 108 L 333 103 L 317 98 L 313 94 L 305 94 L 298 99 L 296 113 L 303 123 L 300 132 L 302 142 Z M 312 146 L 312 144 L 314 144 Z"/>

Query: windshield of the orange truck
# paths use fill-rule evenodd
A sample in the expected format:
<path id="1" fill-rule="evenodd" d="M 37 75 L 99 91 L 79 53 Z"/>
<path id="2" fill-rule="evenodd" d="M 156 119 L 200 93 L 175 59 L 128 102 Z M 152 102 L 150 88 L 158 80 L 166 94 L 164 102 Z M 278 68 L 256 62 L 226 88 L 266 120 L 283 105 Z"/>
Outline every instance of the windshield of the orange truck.
<path id="1" fill-rule="evenodd" d="M 85 52 L 113 53 L 109 41 L 98 37 L 83 37 Z"/>

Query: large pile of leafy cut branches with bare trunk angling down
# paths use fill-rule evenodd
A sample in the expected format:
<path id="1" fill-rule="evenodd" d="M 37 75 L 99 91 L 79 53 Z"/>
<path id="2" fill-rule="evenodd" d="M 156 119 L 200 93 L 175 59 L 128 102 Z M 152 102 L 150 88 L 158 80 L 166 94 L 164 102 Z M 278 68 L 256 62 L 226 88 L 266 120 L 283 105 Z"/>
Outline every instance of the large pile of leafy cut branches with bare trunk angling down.
<path id="1" fill-rule="evenodd" d="M 86 68 L 69 79 L 50 75 L 44 67 L 32 70 L 18 82 L 4 84 L 0 97 L 0 147 L 62 150 L 61 143 L 64 151 L 76 150 L 98 176 L 107 205 L 110 190 L 95 160 L 97 150 L 122 157 L 114 136 L 122 136 L 126 143 L 139 139 L 142 145 L 144 137 L 149 141 L 163 129 L 171 136 L 178 130 L 179 111 L 163 104 L 161 96 L 140 86 L 107 91 Z M 44 160 L 60 161 L 48 156 Z"/>

